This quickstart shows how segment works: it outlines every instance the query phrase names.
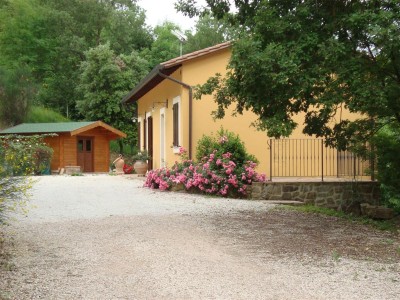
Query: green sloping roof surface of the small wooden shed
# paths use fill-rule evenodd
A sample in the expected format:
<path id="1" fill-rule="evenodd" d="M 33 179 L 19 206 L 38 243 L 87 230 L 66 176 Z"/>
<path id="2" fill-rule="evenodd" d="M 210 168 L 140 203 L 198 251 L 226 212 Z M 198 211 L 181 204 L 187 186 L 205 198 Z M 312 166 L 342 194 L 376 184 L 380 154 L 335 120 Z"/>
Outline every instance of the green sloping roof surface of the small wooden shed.
<path id="1" fill-rule="evenodd" d="M 0 131 L 0 134 L 71 132 L 96 122 L 22 123 Z"/>

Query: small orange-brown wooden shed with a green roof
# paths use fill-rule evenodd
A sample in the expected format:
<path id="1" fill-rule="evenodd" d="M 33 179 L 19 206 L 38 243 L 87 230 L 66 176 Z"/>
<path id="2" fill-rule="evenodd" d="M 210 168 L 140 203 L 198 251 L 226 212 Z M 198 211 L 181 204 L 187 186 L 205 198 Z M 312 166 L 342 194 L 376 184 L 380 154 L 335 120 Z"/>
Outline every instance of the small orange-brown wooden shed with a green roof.
<path id="1" fill-rule="evenodd" d="M 80 166 L 82 172 L 108 172 L 110 141 L 126 134 L 101 122 L 23 123 L 0 134 L 49 134 L 45 142 L 54 150 L 51 169 Z"/>

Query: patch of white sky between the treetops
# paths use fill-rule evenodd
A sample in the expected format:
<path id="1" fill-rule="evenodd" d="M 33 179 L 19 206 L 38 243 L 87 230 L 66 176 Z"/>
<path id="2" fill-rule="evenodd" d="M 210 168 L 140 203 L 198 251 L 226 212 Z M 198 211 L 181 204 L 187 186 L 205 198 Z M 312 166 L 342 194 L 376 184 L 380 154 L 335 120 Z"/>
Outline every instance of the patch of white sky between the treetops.
<path id="1" fill-rule="evenodd" d="M 182 13 L 175 11 L 176 0 L 139 0 L 137 3 L 146 10 L 147 25 L 155 27 L 168 20 L 178 24 L 182 31 L 193 29 L 195 19 L 185 17 Z M 200 3 L 203 1 L 199 1 Z M 203 2 L 204 3 L 204 2 Z"/>

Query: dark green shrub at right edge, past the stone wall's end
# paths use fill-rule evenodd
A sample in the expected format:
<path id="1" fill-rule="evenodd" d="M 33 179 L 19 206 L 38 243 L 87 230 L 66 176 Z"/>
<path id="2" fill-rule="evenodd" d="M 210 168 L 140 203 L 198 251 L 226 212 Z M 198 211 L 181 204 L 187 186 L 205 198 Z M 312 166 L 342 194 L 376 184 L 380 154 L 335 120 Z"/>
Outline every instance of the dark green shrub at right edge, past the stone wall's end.
<path id="1" fill-rule="evenodd" d="M 385 127 L 374 139 L 374 145 L 384 204 L 400 212 L 400 127 Z"/>

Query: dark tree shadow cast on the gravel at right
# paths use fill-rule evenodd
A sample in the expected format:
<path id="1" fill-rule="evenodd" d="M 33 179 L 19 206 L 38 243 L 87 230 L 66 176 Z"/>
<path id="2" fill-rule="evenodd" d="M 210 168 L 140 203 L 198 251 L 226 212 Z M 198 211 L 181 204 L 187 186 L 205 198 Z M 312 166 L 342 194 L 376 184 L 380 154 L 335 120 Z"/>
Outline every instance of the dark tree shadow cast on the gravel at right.
<path id="1" fill-rule="evenodd" d="M 337 217 L 285 209 L 240 211 L 212 219 L 215 230 L 240 240 L 258 255 L 297 258 L 340 257 L 393 263 L 400 259 L 396 233 Z"/>

